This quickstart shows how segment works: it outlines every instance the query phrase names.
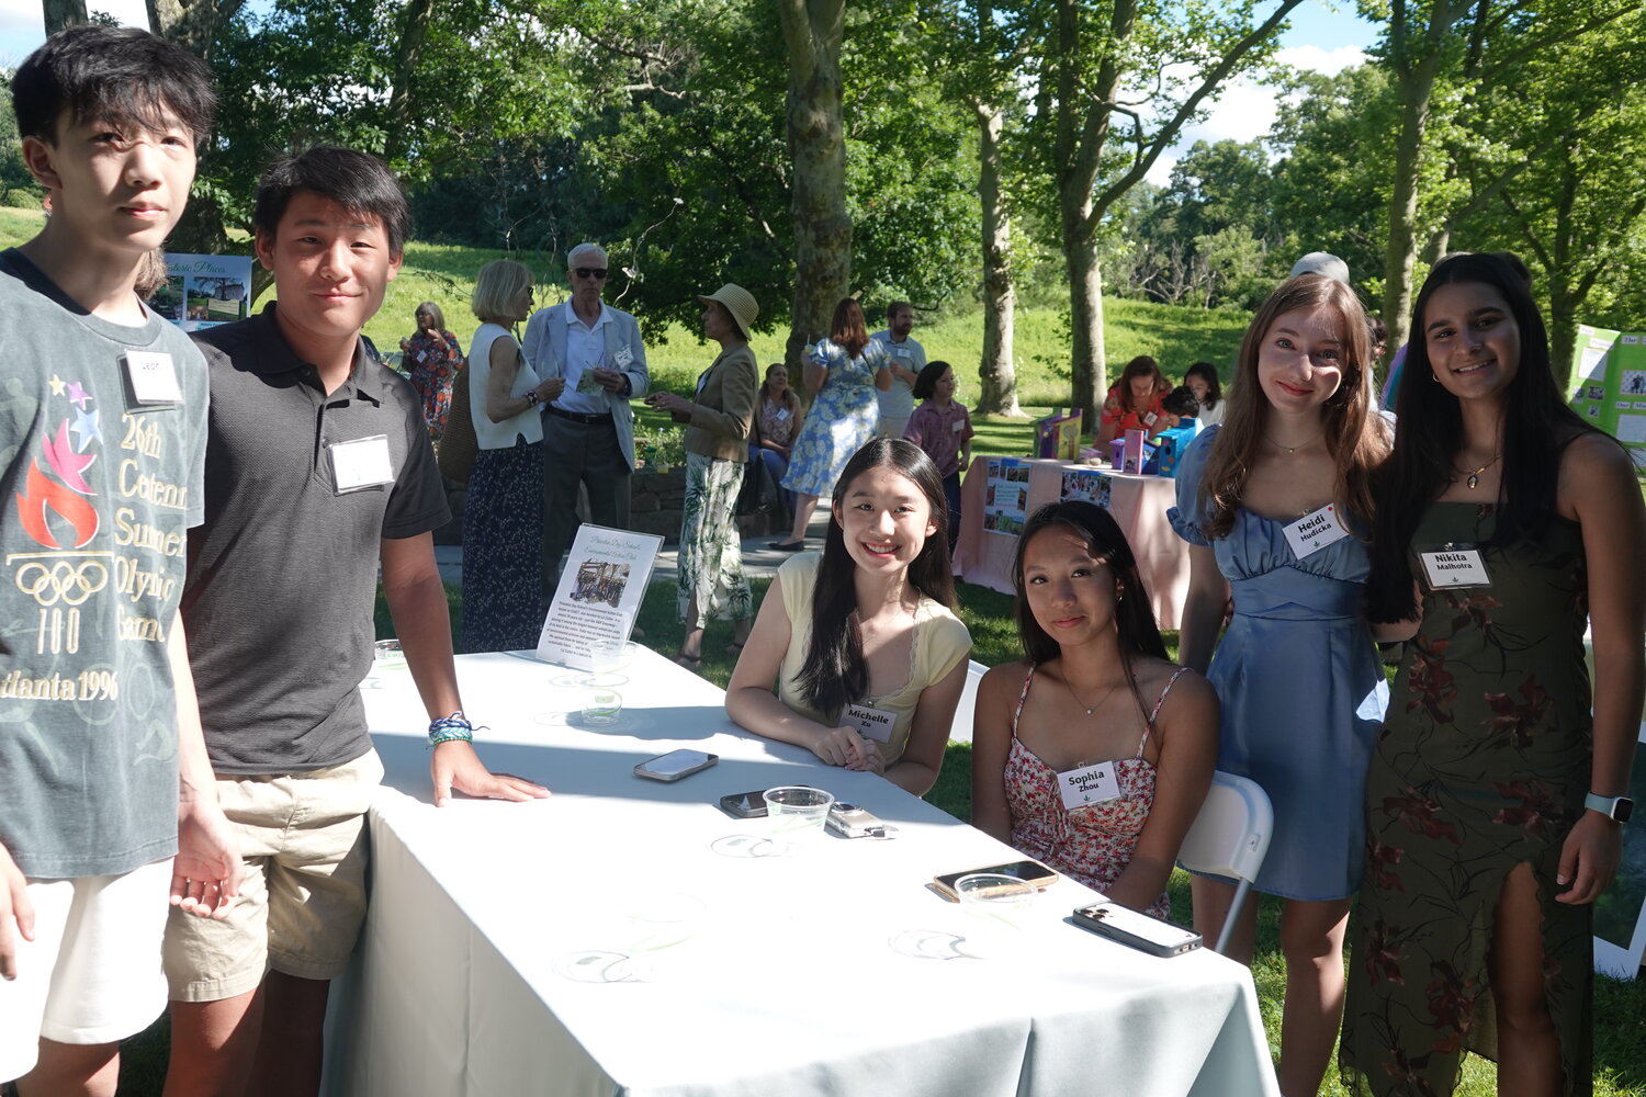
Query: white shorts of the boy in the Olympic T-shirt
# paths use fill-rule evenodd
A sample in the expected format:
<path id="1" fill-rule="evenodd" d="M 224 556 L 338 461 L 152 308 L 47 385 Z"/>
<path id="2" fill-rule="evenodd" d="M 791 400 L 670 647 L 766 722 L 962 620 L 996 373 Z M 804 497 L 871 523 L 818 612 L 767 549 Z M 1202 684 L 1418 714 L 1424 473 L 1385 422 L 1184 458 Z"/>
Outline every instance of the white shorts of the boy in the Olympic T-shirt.
<path id="1" fill-rule="evenodd" d="M 170 857 L 119 877 L 28 882 L 35 939 L 12 926 L 18 974 L 0 980 L 0 1081 L 35 1069 L 41 1036 L 109 1044 L 160 1016 L 170 893 Z"/>

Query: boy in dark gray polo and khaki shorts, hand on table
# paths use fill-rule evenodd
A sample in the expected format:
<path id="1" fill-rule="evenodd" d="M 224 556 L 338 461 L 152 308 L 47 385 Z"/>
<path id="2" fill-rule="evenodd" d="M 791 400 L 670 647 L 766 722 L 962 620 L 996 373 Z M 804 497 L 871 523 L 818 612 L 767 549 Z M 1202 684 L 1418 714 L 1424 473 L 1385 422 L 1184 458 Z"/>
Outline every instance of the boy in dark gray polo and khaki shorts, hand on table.
<path id="1" fill-rule="evenodd" d="M 408 220 L 374 156 L 321 146 L 277 161 L 253 225 L 278 301 L 198 336 L 211 442 L 183 618 L 247 880 L 226 921 L 168 928 L 168 1094 L 319 1087 L 328 987 L 365 914 L 362 824 L 382 776 L 357 692 L 379 564 L 433 720 L 435 803 L 453 788 L 548 794 L 494 776 L 469 743 L 431 538 L 446 498 L 421 405 L 360 342 Z"/>

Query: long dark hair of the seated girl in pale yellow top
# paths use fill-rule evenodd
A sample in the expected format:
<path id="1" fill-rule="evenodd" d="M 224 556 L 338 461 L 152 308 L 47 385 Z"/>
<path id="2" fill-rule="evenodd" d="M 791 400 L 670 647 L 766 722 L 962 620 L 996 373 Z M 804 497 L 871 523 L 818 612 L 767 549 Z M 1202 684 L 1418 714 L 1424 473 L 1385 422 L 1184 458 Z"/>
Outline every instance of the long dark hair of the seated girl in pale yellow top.
<path id="1" fill-rule="evenodd" d="M 856 304 L 856 303 L 853 303 Z M 925 451 L 900 437 L 876 437 L 853 454 L 835 480 L 833 510 L 844 507 L 846 492 L 869 469 L 892 469 L 915 482 L 932 510 L 937 530 L 925 539 L 920 554 L 909 562 L 909 582 L 928 599 L 955 609 L 955 572 L 948 562 L 948 508 L 943 503 L 943 477 Z M 851 623 L 858 609 L 858 564 L 846 551 L 846 535 L 838 520 L 828 523 L 823 538 L 823 562 L 811 595 L 811 643 L 800 668 L 800 696 L 818 712 L 833 714 L 869 689 L 869 666 L 863 661 L 863 638 Z"/>

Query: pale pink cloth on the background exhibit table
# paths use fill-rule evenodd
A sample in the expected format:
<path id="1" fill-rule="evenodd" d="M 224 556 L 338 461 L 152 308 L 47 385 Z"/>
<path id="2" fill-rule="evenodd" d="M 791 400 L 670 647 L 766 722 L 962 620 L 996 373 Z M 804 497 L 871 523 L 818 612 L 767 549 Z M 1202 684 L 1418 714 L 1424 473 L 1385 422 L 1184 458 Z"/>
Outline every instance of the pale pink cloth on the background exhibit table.
<path id="1" fill-rule="evenodd" d="M 955 574 L 996 590 L 1012 592 L 1012 558 L 1017 538 L 983 528 L 983 503 L 988 492 L 988 457 L 973 457 L 960 484 L 960 543 L 955 546 Z M 1062 461 L 1027 461 L 1029 498 L 1025 515 L 1063 493 L 1065 472 L 1091 472 L 1091 465 Z M 1142 586 L 1149 589 L 1160 628 L 1177 628 L 1183 600 L 1188 597 L 1188 546 L 1172 533 L 1165 511 L 1177 505 L 1177 480 L 1155 475 L 1132 475 L 1101 467 L 1113 482 L 1109 513 L 1119 523 L 1137 558 Z"/>

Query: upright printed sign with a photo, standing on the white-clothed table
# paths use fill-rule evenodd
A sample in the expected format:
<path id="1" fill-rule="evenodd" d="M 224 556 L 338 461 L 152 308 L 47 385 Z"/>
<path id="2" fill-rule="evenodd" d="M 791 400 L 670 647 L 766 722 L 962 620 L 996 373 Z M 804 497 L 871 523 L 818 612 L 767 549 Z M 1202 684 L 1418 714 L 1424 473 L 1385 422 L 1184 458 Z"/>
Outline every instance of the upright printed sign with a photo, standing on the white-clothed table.
<path id="1" fill-rule="evenodd" d="M 578 526 L 555 600 L 543 618 L 537 658 L 576 671 L 593 671 L 596 640 L 627 640 L 645 599 L 652 564 L 663 538 L 606 526 Z"/>

